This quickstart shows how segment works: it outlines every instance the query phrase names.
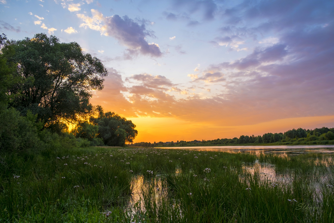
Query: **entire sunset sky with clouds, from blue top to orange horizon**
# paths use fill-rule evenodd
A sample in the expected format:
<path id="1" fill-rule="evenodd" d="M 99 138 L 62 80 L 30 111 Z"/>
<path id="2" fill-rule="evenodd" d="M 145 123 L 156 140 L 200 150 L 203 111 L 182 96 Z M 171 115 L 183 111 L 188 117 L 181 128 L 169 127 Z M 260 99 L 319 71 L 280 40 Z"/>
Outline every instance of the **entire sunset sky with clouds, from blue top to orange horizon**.
<path id="1" fill-rule="evenodd" d="M 109 70 L 92 104 L 135 142 L 334 127 L 329 0 L 0 0 L 9 39 L 77 42 Z"/>

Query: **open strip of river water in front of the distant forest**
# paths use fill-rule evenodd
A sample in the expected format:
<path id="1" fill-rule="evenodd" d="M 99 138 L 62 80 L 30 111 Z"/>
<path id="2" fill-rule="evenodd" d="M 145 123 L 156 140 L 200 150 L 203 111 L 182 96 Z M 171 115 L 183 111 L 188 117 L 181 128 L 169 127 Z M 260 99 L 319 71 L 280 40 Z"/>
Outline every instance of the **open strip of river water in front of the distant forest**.
<path id="1" fill-rule="evenodd" d="M 189 147 L 155 147 L 162 149 L 190 149 L 198 151 L 222 151 L 255 154 L 299 155 L 307 153 L 334 154 L 334 145 L 296 145 L 296 146 L 189 146 Z"/>

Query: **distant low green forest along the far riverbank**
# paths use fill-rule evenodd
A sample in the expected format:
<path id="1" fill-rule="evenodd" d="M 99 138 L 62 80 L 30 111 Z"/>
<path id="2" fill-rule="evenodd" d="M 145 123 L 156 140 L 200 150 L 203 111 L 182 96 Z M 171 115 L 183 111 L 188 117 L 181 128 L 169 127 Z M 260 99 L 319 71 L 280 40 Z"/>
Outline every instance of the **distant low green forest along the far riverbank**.
<path id="1" fill-rule="evenodd" d="M 285 133 L 265 133 L 262 136 L 240 136 L 233 139 L 193 140 L 177 142 L 140 142 L 130 146 L 170 147 L 170 146 L 224 146 L 224 145 L 300 145 L 300 144 L 334 144 L 334 128 L 322 127 L 313 130 L 292 129 Z"/>

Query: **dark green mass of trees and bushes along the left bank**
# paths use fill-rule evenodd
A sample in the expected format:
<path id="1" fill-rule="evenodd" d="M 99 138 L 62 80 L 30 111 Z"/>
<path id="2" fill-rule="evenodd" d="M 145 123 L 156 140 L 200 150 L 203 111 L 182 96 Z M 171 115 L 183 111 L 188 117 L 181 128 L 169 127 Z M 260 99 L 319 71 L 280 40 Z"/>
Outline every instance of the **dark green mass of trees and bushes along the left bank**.
<path id="1" fill-rule="evenodd" d="M 23 40 L 0 35 L 0 150 L 133 142 L 138 132 L 130 120 L 90 103 L 107 75 L 75 42 L 44 33 Z"/>

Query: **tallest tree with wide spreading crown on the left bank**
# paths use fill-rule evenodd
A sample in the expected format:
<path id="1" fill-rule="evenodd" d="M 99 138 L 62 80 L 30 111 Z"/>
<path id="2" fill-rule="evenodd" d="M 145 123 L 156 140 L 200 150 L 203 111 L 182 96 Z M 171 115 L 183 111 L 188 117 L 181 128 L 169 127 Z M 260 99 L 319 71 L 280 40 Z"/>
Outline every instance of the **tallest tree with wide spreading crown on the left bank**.
<path id="1" fill-rule="evenodd" d="M 1 49 L 8 63 L 17 64 L 21 80 L 8 90 L 10 106 L 22 114 L 31 110 L 47 125 L 87 118 L 93 110 L 92 90 L 103 88 L 107 69 L 75 42 L 60 43 L 55 36 L 7 42 Z"/>

